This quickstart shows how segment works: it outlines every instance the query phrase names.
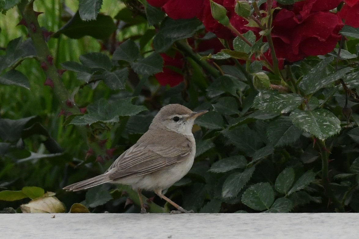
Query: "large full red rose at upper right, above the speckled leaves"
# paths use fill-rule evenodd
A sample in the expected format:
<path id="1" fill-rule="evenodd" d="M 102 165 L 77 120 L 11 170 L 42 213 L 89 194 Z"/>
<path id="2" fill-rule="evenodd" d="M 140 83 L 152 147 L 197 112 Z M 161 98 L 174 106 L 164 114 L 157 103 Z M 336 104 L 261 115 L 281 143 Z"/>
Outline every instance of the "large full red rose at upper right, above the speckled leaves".
<path id="1" fill-rule="evenodd" d="M 314 11 L 320 9 L 315 5 L 320 2 L 322 0 L 298 2 L 294 4 L 293 11 L 281 9 L 275 14 L 272 38 L 278 58 L 294 62 L 307 56 L 323 55 L 334 49 L 343 24 L 333 13 Z M 331 3 L 323 4 L 322 10 L 327 11 L 337 4 L 336 1 Z M 317 9 L 313 10 L 313 6 Z"/>

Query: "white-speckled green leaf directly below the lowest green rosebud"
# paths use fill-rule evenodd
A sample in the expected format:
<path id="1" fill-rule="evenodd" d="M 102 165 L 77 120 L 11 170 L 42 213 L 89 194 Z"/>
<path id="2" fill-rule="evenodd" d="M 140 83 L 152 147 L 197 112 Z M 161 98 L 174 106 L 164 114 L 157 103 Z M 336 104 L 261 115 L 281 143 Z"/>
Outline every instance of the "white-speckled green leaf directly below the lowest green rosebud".
<path id="1" fill-rule="evenodd" d="M 296 109 L 303 101 L 298 94 L 280 94 L 275 90 L 260 91 L 255 97 L 253 107 L 268 113 L 284 114 Z"/>

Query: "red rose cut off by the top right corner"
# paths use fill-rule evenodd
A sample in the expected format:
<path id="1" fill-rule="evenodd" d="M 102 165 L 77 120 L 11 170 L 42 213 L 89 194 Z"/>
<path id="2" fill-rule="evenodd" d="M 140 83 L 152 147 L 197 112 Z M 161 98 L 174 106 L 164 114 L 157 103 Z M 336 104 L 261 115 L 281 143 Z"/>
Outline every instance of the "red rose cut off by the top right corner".
<path id="1" fill-rule="evenodd" d="M 359 27 L 359 0 L 346 0 L 345 5 L 339 11 L 338 15 L 344 19 L 345 25 Z"/>

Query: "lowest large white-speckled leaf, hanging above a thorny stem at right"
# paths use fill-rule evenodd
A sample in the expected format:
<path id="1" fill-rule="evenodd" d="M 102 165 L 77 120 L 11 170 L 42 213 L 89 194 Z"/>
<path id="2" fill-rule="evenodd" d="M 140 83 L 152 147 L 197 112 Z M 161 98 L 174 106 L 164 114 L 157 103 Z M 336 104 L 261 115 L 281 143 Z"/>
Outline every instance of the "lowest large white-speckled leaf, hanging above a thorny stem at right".
<path id="1" fill-rule="evenodd" d="M 340 120 L 329 110 L 312 111 L 295 110 L 290 116 L 294 125 L 324 140 L 340 132 Z"/>

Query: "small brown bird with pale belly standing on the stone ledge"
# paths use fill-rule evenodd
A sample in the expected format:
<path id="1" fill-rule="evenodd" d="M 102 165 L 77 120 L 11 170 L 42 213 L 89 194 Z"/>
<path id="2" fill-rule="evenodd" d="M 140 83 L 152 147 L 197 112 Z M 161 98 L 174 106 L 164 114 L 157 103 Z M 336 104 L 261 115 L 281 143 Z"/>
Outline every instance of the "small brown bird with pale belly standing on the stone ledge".
<path id="1" fill-rule="evenodd" d="M 140 197 L 141 191 L 154 191 L 180 212 L 188 212 L 162 194 L 190 171 L 196 154 L 192 126 L 197 116 L 207 110 L 193 112 L 179 104 L 162 107 L 152 120 L 148 131 L 131 148 L 123 152 L 102 175 L 64 187 L 79 191 L 102 183 L 131 185 Z"/>

